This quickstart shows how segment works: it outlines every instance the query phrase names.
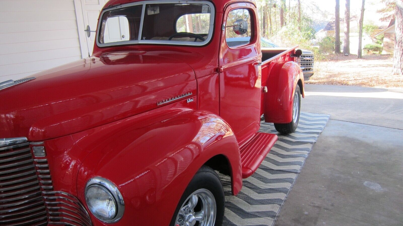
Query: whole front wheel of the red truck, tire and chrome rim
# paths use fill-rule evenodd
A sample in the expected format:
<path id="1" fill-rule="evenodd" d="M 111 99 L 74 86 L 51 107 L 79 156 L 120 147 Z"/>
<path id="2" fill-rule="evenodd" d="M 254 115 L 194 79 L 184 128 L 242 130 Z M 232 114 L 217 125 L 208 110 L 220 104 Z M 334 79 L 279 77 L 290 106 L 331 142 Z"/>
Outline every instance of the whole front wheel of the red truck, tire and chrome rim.
<path id="1" fill-rule="evenodd" d="M 202 166 L 185 189 L 170 226 L 221 226 L 224 189 L 217 173 Z"/>

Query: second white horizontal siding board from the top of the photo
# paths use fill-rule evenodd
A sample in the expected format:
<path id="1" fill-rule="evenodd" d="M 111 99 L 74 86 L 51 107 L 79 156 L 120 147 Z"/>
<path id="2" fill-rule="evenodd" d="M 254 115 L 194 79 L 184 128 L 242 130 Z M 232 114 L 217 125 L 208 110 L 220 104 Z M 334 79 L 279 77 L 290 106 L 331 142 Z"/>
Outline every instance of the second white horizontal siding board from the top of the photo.
<path id="1" fill-rule="evenodd" d="M 69 11 L 42 11 L 42 12 L 2 12 L 0 21 L 5 22 L 32 22 L 32 21 L 62 21 L 75 20 L 74 10 Z"/>

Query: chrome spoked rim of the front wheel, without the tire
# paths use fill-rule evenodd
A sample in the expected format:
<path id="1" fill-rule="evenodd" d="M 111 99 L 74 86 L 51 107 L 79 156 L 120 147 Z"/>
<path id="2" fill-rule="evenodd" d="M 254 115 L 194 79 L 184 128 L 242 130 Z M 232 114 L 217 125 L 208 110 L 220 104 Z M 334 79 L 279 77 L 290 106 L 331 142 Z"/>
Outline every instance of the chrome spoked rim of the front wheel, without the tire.
<path id="1" fill-rule="evenodd" d="M 214 195 L 207 189 L 193 192 L 179 209 L 175 226 L 214 226 L 217 205 Z"/>

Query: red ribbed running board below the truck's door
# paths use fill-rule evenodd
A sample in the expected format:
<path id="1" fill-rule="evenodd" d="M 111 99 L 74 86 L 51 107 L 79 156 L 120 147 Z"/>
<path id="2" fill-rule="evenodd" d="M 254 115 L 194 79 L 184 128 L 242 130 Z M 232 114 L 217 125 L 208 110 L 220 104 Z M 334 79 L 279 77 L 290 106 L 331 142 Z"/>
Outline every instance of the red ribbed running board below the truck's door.
<path id="1" fill-rule="evenodd" d="M 256 133 L 241 147 L 242 178 L 251 176 L 259 168 L 276 141 L 275 134 Z"/>

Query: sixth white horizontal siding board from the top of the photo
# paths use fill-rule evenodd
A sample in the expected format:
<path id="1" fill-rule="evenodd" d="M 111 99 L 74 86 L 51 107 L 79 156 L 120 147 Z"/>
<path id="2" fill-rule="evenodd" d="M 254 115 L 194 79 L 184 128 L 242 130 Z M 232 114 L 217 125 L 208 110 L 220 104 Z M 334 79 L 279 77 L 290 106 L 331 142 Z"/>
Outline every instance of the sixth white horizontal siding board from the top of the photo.
<path id="1" fill-rule="evenodd" d="M 16 62 L 32 62 L 37 60 L 51 60 L 54 58 L 81 56 L 79 47 L 63 48 L 54 50 L 43 50 L 35 52 L 24 52 L 15 54 L 0 55 L 0 65 L 15 64 Z"/>

